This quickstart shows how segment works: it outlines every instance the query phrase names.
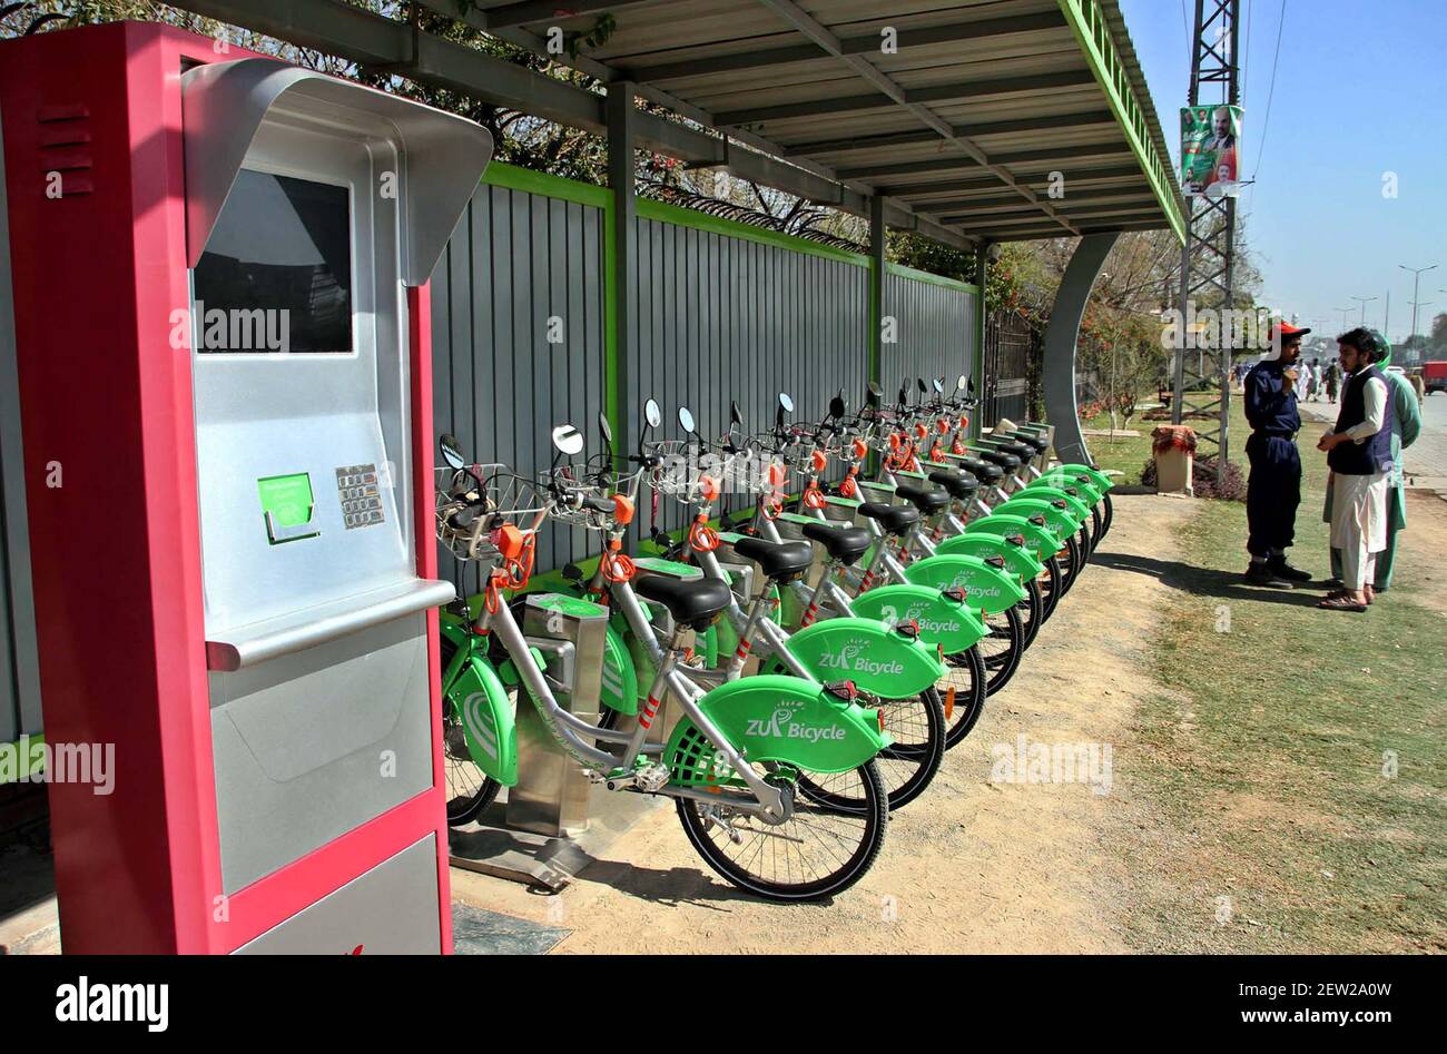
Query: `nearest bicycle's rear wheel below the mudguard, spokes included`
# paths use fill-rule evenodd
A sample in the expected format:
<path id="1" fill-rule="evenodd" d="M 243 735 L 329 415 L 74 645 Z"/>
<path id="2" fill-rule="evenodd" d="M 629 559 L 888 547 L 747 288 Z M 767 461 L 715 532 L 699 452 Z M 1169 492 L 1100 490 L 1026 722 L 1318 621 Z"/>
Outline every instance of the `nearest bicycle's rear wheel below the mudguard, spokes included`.
<path id="1" fill-rule="evenodd" d="M 771 779 L 792 777 L 783 769 Z M 793 789 L 793 817 L 777 827 L 731 811 L 726 802 L 680 798 L 679 822 L 709 867 L 739 889 L 768 901 L 823 901 L 841 893 L 874 866 L 888 827 L 888 796 L 871 760 L 848 772 L 810 780 L 862 802 L 844 811 Z"/>

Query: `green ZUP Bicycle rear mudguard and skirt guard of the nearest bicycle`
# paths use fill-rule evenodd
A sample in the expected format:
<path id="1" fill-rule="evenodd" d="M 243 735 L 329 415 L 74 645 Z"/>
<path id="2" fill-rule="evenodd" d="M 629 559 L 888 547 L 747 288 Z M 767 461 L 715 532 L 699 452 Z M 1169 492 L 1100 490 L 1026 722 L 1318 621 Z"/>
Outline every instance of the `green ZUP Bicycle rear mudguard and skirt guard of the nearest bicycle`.
<path id="1" fill-rule="evenodd" d="M 719 685 L 699 709 L 735 750 L 755 764 L 784 763 L 809 772 L 848 772 L 890 744 L 878 711 L 831 695 L 800 678 L 763 675 Z M 669 737 L 664 762 L 674 786 L 739 783 L 719 772 L 715 744 L 684 717 Z"/>

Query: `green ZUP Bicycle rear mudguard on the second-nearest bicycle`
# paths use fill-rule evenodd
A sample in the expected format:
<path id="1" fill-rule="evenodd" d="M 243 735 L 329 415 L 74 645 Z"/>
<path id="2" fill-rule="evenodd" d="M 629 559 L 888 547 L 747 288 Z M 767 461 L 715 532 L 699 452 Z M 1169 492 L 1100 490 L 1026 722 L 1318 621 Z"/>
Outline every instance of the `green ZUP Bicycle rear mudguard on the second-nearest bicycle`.
<path id="1" fill-rule="evenodd" d="M 877 618 L 826 618 L 787 647 L 819 680 L 852 680 L 884 699 L 909 699 L 945 676 L 933 647 Z"/>

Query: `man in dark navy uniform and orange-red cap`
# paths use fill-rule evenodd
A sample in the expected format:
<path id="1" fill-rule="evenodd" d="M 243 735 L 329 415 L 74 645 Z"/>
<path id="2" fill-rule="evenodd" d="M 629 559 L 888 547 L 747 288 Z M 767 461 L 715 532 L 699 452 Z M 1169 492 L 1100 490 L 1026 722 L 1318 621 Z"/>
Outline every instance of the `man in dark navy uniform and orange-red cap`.
<path id="1" fill-rule="evenodd" d="M 1252 555 L 1246 581 L 1252 585 L 1291 589 L 1297 582 L 1311 581 L 1308 572 L 1286 563 L 1301 504 L 1297 359 L 1301 339 L 1308 333 L 1310 329 L 1286 323 L 1273 326 L 1272 349 L 1246 375 L 1246 420 L 1252 426 L 1252 437 L 1246 440 L 1252 465 L 1246 481 L 1246 550 Z"/>

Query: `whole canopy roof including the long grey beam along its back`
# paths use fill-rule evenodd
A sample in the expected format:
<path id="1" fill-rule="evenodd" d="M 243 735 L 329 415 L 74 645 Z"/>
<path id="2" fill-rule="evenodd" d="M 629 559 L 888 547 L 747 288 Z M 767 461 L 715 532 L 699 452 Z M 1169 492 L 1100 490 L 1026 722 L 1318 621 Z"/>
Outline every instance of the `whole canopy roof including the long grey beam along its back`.
<path id="1" fill-rule="evenodd" d="M 171 3 L 606 129 L 598 94 L 333 0 Z M 647 149 L 860 214 L 884 195 L 894 227 L 952 245 L 1185 233 L 1117 0 L 421 3 L 603 83 L 634 83 L 684 119 L 641 114 Z M 614 29 L 601 45 L 548 48 L 557 29 L 587 33 L 605 13 Z"/>

